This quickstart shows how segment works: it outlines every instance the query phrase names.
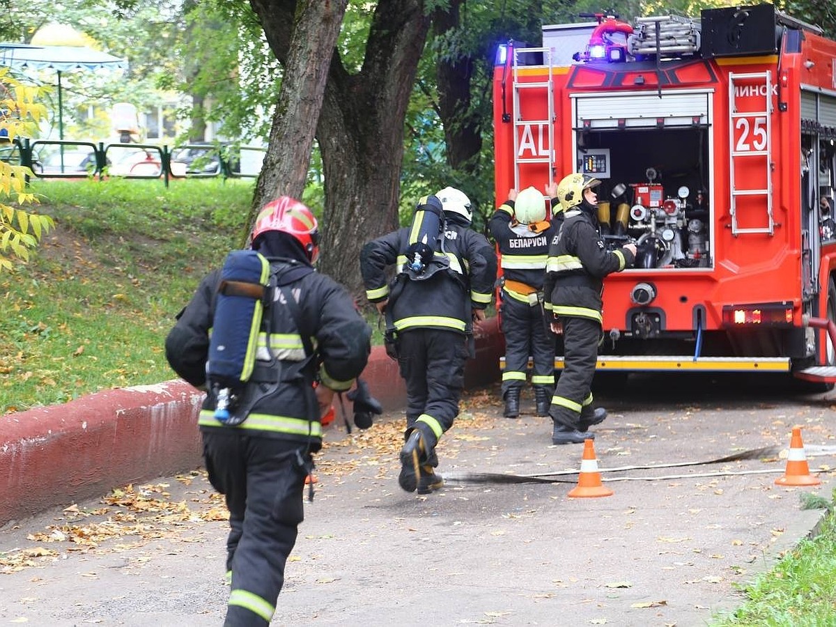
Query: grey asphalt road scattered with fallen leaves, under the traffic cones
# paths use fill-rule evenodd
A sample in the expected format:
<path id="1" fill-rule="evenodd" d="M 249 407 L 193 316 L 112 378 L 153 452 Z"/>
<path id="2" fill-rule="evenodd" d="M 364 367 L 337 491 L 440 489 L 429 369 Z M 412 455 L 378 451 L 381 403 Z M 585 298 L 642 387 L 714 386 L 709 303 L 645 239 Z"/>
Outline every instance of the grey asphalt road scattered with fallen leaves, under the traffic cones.
<path id="1" fill-rule="evenodd" d="M 610 497 L 567 497 L 576 474 L 487 481 L 577 470 L 583 448 L 551 446 L 548 419 L 502 418 L 496 390 L 467 396 L 439 447 L 446 487 L 428 497 L 397 486 L 400 416 L 329 431 L 273 624 L 711 624 L 822 516 L 800 497 L 832 491 L 833 459 L 820 453 L 836 443 L 833 392 L 669 375 L 598 398 L 610 411 L 595 428 Z M 775 486 L 780 455 L 608 470 L 786 449 L 794 425 L 819 487 Z M 0 529 L 0 624 L 222 624 L 223 512 L 195 469 Z"/>

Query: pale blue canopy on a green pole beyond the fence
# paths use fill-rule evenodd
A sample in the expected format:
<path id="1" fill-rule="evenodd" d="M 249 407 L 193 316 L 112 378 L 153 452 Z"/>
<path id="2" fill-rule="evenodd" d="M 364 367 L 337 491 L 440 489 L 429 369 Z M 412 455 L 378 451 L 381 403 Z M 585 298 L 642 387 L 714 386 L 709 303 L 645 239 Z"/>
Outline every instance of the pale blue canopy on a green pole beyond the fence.
<path id="1" fill-rule="evenodd" d="M 58 73 L 58 130 L 64 139 L 64 103 L 61 97 L 61 73 L 95 69 L 125 69 L 126 59 L 99 52 L 87 46 L 33 46 L 25 43 L 0 43 L 0 66 L 16 69 L 54 69 Z"/>

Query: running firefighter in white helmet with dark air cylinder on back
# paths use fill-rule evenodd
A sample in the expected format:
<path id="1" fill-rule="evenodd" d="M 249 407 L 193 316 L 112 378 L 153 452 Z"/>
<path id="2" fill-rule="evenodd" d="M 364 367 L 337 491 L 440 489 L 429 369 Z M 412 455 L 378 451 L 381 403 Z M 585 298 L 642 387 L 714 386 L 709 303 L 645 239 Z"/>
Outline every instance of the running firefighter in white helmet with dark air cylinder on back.
<path id="1" fill-rule="evenodd" d="M 436 444 L 459 413 L 472 324 L 485 317 L 497 277 L 491 244 L 473 231 L 467 196 L 446 187 L 418 201 L 410 227 L 360 252 L 366 296 L 386 319 L 386 344 L 406 384 L 398 483 L 427 494 L 443 486 Z M 395 279 L 386 282 L 386 269 Z"/>

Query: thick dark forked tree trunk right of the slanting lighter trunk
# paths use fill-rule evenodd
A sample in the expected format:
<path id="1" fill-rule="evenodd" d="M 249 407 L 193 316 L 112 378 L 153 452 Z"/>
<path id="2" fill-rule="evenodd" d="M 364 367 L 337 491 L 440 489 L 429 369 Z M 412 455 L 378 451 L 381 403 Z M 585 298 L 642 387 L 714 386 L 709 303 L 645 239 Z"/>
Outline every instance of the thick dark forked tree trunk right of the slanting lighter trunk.
<path id="1" fill-rule="evenodd" d="M 325 171 L 320 264 L 359 302 L 360 249 L 398 226 L 406 107 L 429 28 L 421 0 L 380 2 L 359 74 L 347 74 L 336 57 L 331 64 L 317 130 Z"/>

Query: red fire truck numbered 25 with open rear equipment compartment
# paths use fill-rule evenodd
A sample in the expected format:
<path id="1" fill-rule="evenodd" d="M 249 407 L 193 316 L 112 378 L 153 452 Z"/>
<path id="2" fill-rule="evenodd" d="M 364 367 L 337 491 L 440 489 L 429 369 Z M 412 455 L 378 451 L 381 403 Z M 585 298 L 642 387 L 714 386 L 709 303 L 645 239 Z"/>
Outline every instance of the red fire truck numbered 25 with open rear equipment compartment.
<path id="1" fill-rule="evenodd" d="M 594 18 L 500 47 L 493 97 L 497 199 L 593 175 L 604 239 L 639 248 L 604 281 L 599 371 L 832 388 L 836 42 L 771 4 Z"/>

